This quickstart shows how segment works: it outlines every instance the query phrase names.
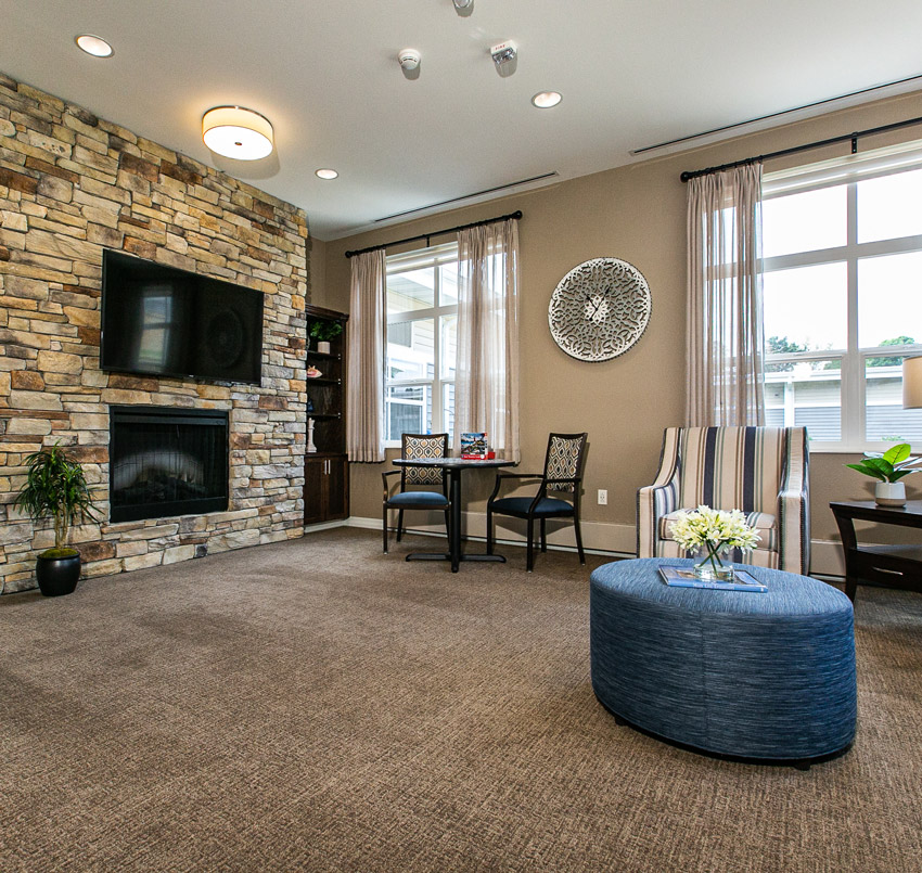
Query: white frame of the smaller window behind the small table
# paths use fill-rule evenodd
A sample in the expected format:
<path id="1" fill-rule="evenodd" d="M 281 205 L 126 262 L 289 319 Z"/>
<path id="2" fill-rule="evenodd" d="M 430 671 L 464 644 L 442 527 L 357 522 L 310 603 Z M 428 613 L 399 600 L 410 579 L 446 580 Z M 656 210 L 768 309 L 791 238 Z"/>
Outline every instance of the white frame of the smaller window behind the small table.
<path id="1" fill-rule="evenodd" d="M 423 309 L 408 309 L 402 312 L 388 313 L 385 311 L 384 333 L 384 431 L 390 432 L 389 421 L 389 389 L 394 387 L 427 386 L 432 396 L 432 433 L 440 434 L 448 431 L 447 423 L 443 422 L 445 386 L 454 384 L 454 376 L 443 374 L 441 343 L 443 320 L 458 316 L 458 300 L 453 304 L 441 303 L 441 266 L 458 262 L 458 243 L 444 243 L 441 245 L 427 246 L 412 252 L 402 252 L 398 255 L 388 255 L 386 258 L 386 282 L 392 275 L 397 275 L 410 270 L 433 269 L 433 300 L 434 306 Z M 387 290 L 385 287 L 385 300 Z M 385 303 L 386 309 L 386 303 Z M 431 320 L 433 322 L 433 377 L 432 378 L 392 378 L 387 371 L 387 333 L 392 324 L 406 324 L 413 321 Z M 449 433 L 450 439 L 450 433 Z M 386 449 L 399 449 L 400 439 L 385 439 Z"/>

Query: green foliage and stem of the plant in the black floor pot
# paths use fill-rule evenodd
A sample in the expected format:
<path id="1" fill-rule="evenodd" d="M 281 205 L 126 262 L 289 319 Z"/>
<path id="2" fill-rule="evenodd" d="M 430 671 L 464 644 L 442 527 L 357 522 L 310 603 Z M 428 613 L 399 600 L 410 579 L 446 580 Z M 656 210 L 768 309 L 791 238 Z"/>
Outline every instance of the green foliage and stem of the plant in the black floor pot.
<path id="1" fill-rule="evenodd" d="M 66 548 L 71 525 L 95 516 L 84 468 L 56 445 L 30 454 L 26 466 L 26 484 L 13 505 L 28 513 L 34 524 L 54 521 L 54 548 L 42 552 L 41 557 L 77 554 L 76 549 Z"/>

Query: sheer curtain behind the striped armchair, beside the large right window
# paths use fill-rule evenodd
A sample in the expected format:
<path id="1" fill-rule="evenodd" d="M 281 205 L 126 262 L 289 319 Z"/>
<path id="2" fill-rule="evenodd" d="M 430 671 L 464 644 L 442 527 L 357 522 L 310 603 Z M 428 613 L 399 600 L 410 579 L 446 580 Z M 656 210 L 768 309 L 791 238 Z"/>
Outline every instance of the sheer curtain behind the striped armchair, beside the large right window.
<path id="1" fill-rule="evenodd" d="M 691 426 L 765 424 L 761 164 L 689 181 Z"/>

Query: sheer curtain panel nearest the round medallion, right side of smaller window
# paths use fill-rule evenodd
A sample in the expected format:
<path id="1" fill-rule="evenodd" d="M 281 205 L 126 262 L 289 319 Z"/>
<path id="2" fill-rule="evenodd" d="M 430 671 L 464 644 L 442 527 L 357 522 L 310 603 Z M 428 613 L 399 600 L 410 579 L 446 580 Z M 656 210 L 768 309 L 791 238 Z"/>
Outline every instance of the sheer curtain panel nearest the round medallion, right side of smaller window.
<path id="1" fill-rule="evenodd" d="M 518 222 L 458 233 L 454 449 L 485 432 L 497 458 L 518 451 Z"/>

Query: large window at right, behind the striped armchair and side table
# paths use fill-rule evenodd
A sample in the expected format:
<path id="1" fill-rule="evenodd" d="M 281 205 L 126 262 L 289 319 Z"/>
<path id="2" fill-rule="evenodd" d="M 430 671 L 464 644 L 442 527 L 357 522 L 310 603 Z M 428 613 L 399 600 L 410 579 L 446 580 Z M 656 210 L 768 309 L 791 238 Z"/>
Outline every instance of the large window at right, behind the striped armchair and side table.
<path id="1" fill-rule="evenodd" d="M 766 174 L 763 197 L 766 423 L 814 450 L 922 442 L 901 372 L 922 355 L 920 143 Z"/>

